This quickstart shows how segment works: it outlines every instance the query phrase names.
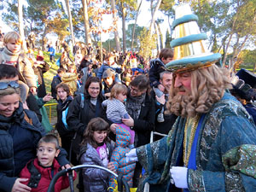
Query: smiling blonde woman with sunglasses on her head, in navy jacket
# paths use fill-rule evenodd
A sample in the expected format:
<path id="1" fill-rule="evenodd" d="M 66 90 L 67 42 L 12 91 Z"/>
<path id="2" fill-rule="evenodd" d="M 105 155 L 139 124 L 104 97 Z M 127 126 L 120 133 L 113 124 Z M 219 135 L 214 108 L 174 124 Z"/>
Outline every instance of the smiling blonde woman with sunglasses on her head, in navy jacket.
<path id="1" fill-rule="evenodd" d="M 20 102 L 19 84 L 15 81 L 1 80 L 0 191 L 31 190 L 30 187 L 22 184 L 27 178 L 18 176 L 26 163 L 36 157 L 38 141 L 44 134 L 44 128 L 36 114 L 23 108 Z M 67 154 L 61 151 L 61 156 L 59 155 L 57 160 L 61 165 L 66 165 Z"/>

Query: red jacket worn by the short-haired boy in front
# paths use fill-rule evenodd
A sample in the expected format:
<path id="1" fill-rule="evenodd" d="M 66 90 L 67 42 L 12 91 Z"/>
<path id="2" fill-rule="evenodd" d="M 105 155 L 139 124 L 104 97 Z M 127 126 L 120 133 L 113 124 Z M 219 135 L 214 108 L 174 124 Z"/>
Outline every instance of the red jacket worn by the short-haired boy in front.
<path id="1" fill-rule="evenodd" d="M 20 172 L 20 178 L 30 178 L 22 183 L 30 186 L 32 188 L 31 192 L 46 192 L 52 177 L 59 171 L 61 171 L 61 166 L 57 160 L 53 161 L 52 166 L 43 167 L 39 165 L 38 158 L 36 158 L 35 160 L 32 160 L 32 162 L 30 161 L 26 164 L 26 167 Z M 32 172 L 38 172 L 38 174 L 32 176 Z M 38 175 L 40 176 L 38 177 Z M 77 175 L 75 173 L 73 180 L 75 180 L 76 177 Z M 68 186 L 68 177 L 67 175 L 64 175 L 56 181 L 55 192 L 60 192 L 61 189 L 66 189 Z"/>

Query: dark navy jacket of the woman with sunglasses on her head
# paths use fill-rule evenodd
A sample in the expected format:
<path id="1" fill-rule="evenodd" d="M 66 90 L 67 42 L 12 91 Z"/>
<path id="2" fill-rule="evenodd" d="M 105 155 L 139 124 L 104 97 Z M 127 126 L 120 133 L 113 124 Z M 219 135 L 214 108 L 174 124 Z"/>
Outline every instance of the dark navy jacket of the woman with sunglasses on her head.
<path id="1" fill-rule="evenodd" d="M 44 136 L 44 128 L 36 114 L 26 110 L 20 102 L 11 117 L 0 115 L 0 191 L 11 191 L 17 176 L 26 163 L 36 157 L 39 139 Z"/>

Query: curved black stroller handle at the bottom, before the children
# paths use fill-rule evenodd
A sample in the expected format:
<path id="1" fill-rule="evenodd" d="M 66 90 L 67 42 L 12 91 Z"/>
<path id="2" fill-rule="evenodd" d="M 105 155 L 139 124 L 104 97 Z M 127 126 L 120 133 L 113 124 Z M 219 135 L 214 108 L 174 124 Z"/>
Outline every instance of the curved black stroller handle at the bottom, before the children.
<path id="1" fill-rule="evenodd" d="M 79 170 L 82 168 L 87 168 L 87 167 L 93 167 L 93 168 L 98 168 L 98 169 L 102 169 L 105 170 L 106 172 L 109 172 L 111 174 L 113 174 L 114 177 L 117 177 L 117 182 L 118 182 L 118 191 L 124 191 L 123 187 L 125 187 L 125 192 L 130 192 L 130 187 L 128 185 L 128 183 L 126 183 L 125 179 L 123 178 L 122 175 L 117 175 L 116 173 L 108 170 L 105 167 L 102 166 L 96 166 L 96 165 L 80 165 L 80 166 L 73 166 L 71 168 L 68 169 L 64 169 L 61 172 L 58 172 L 55 177 L 52 178 L 51 182 L 49 183 L 49 188 L 47 190 L 47 192 L 54 192 L 55 191 L 55 183 L 58 180 L 59 177 L 65 175 L 68 173 L 68 179 L 69 179 L 69 184 L 70 184 L 70 191 L 74 192 L 74 188 L 73 188 L 73 171 L 74 170 Z"/>

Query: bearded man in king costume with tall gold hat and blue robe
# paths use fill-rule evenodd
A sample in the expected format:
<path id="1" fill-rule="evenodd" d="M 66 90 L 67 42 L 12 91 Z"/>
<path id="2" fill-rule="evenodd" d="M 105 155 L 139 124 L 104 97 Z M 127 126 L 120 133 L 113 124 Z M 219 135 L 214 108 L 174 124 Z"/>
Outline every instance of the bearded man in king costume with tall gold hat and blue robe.
<path id="1" fill-rule="evenodd" d="M 149 191 L 256 191 L 256 127 L 226 90 L 229 74 L 207 53 L 198 18 L 188 4 L 176 9 L 174 61 L 168 110 L 178 118 L 168 137 L 126 154 L 145 174 Z"/>

